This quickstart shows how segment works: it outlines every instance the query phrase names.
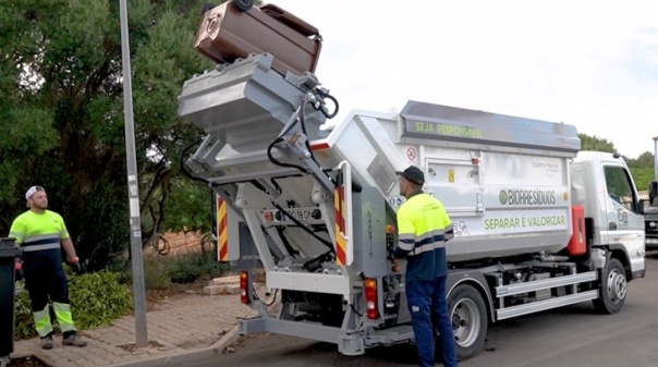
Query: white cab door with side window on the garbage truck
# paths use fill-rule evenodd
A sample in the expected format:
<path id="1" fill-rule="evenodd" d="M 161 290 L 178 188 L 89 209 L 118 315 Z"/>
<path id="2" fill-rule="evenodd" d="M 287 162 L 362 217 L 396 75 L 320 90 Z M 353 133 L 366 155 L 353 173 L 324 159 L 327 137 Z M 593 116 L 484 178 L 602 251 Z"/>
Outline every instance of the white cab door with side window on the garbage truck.
<path id="1" fill-rule="evenodd" d="M 604 162 L 606 180 L 607 229 L 601 229 L 604 243 L 632 245 L 643 242 L 644 219 L 639 213 L 638 198 L 630 172 L 618 164 Z M 609 242 L 606 242 L 606 234 Z M 629 243 L 631 242 L 631 243 Z"/>

